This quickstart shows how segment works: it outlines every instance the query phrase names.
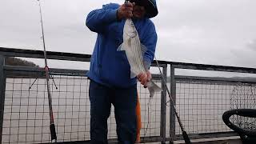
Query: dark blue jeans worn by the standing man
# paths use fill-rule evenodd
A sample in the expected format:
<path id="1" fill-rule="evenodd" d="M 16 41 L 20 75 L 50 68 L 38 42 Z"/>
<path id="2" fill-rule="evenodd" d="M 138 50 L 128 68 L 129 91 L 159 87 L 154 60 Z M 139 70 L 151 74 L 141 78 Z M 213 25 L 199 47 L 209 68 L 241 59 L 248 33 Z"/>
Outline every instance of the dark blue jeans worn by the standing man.
<path id="1" fill-rule="evenodd" d="M 113 89 L 90 81 L 90 142 L 107 143 L 107 118 L 111 103 L 117 123 L 118 143 L 133 144 L 136 140 L 137 86 Z"/>

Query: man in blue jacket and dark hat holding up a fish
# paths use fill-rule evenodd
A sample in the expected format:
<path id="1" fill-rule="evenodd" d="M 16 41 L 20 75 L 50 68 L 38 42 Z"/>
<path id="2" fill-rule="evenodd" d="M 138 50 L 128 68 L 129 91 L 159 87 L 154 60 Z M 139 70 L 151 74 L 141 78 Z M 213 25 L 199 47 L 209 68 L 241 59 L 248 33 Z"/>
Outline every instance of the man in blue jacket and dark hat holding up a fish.
<path id="1" fill-rule="evenodd" d="M 93 10 L 86 18 L 86 26 L 98 34 L 90 60 L 90 139 L 91 143 L 107 143 L 107 118 L 111 103 L 117 123 L 119 143 L 134 143 L 136 139 L 137 79 L 142 85 L 150 81 L 148 70 L 154 59 L 157 34 L 149 18 L 158 14 L 155 0 L 131 0 L 121 6 L 110 3 Z M 130 65 L 122 44 L 126 18 L 132 18 L 140 41 L 146 46 L 146 73 L 130 78 Z"/>

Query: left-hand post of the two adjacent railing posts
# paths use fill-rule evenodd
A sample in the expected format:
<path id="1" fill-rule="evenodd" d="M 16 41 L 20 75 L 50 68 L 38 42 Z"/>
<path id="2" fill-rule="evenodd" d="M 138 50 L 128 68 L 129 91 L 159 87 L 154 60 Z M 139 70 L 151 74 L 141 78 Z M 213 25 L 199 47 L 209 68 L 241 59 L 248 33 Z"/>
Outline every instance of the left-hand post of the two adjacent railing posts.
<path id="1" fill-rule="evenodd" d="M 167 65 L 162 68 L 163 78 L 167 80 Z M 167 82 L 167 81 L 166 81 Z M 161 124 L 160 124 L 160 136 L 162 143 L 166 143 L 166 83 L 162 81 L 162 93 L 161 93 Z"/>

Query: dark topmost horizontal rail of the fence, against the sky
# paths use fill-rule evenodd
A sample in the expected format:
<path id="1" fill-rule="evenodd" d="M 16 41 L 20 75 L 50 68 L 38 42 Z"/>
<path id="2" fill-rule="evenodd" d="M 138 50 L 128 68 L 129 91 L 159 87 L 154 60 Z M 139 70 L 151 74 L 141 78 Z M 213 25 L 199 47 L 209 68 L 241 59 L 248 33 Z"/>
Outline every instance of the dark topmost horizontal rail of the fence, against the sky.
<path id="1" fill-rule="evenodd" d="M 47 51 L 48 59 L 58 59 L 58 60 L 69 60 L 69 61 L 82 61 L 90 62 L 90 54 L 73 54 L 64 52 L 54 52 Z M 42 50 L 23 50 L 14 48 L 0 47 L 0 55 L 6 57 L 25 57 L 25 58 L 44 58 Z M 228 71 L 237 73 L 250 73 L 256 74 L 256 68 L 249 67 L 238 67 L 238 66 L 218 66 L 218 65 L 206 65 L 206 64 L 196 64 L 196 63 L 186 63 L 186 62 L 168 62 L 168 61 L 158 61 L 159 64 L 170 64 L 174 68 L 178 69 L 190 69 L 190 70 L 215 70 L 215 71 Z M 156 62 L 153 62 L 155 65 Z"/>

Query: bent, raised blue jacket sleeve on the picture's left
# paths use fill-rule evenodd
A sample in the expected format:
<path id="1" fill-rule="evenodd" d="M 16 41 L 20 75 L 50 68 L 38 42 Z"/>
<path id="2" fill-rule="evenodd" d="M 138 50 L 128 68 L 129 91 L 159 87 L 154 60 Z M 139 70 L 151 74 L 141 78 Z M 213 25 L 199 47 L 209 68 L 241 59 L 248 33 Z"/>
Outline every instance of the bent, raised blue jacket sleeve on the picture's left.
<path id="1" fill-rule="evenodd" d="M 86 26 L 96 33 L 104 33 L 106 25 L 117 21 L 119 5 L 110 3 L 102 6 L 102 9 L 92 10 L 86 18 Z"/>

